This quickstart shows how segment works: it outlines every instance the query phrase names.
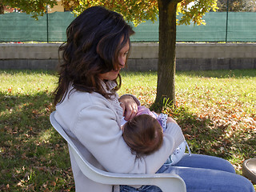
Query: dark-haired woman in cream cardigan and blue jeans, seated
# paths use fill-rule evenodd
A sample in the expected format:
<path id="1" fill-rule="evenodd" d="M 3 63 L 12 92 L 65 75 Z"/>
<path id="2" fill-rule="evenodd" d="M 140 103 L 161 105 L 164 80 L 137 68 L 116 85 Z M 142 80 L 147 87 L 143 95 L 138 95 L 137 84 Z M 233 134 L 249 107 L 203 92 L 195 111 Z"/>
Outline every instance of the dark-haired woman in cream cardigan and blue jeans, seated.
<path id="1" fill-rule="evenodd" d="M 174 122 L 167 123 L 163 144 L 158 151 L 143 158 L 136 158 L 135 154 L 130 153 L 129 146 L 122 138 L 120 121 L 123 115 L 126 120 L 133 118 L 139 102 L 131 95 L 118 98 L 116 94 L 116 90 L 121 86 L 119 72 L 126 65 L 130 50 L 130 35 L 134 34 L 134 31 L 120 14 L 96 6 L 85 10 L 75 18 L 67 28 L 66 34 L 67 42 L 59 49 L 63 51 L 63 62 L 60 66 L 58 88 L 54 92 L 55 118 L 91 164 L 115 173 L 175 172 L 185 180 L 188 191 L 198 189 L 193 182 L 200 180 L 200 177 L 202 178 L 200 187 L 209 189 L 210 184 L 205 185 L 206 179 L 214 185 L 216 181 L 218 183 L 219 175 L 231 174 L 218 169 L 234 172 L 230 163 L 223 159 L 203 158 L 204 156 L 197 155 L 192 155 L 190 157 L 192 160 L 189 162 L 186 161 L 186 157 L 182 158 L 179 164 L 194 166 L 195 162 L 198 162 L 199 167 L 216 168 L 215 177 L 212 174 L 205 177 L 207 170 L 188 168 L 185 172 L 184 169 L 170 170 L 170 166 L 162 166 L 169 155 L 184 142 L 182 131 Z M 201 158 L 207 161 L 214 160 L 206 164 L 200 160 Z M 76 191 L 113 190 L 112 186 L 102 185 L 86 178 L 79 170 L 72 154 L 70 159 Z M 193 159 L 196 161 L 194 162 Z M 231 175 L 234 178 L 238 176 L 234 173 Z M 236 191 L 252 191 L 244 190 L 247 186 L 249 188 L 250 182 L 246 179 L 242 180 L 241 176 L 232 180 L 232 176 L 229 177 L 232 181 L 230 189 L 237 184 L 235 182 L 240 182 L 243 185 L 240 187 L 242 190 Z M 121 190 L 126 190 L 126 187 L 130 186 L 121 186 Z M 140 190 L 145 189 L 144 187 L 142 186 Z M 218 191 L 226 191 L 221 187 Z M 152 189 L 151 191 L 154 191 L 157 188 Z M 128 190 L 132 191 L 134 188 Z"/>

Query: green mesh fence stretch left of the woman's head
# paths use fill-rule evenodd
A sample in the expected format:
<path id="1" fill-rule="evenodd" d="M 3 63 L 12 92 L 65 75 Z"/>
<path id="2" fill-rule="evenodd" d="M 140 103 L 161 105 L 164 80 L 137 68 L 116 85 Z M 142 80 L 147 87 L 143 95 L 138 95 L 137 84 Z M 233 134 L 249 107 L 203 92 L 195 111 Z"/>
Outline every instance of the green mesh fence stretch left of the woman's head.
<path id="1" fill-rule="evenodd" d="M 0 14 L 0 42 L 63 42 L 73 20 L 70 12 L 55 12 L 37 21 L 25 13 Z"/>

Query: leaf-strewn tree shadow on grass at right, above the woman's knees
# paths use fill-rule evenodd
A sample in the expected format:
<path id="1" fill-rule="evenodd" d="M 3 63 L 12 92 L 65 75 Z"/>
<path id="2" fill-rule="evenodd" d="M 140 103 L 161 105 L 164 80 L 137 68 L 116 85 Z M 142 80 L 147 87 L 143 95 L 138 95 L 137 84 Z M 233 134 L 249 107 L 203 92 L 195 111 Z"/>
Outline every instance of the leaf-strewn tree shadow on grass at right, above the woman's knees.
<path id="1" fill-rule="evenodd" d="M 226 122 L 198 118 L 183 107 L 176 110 L 167 108 L 165 113 L 177 119 L 194 154 L 208 154 L 230 160 L 236 163 L 234 166 L 239 169 L 238 172 L 241 172 L 242 162 L 246 158 L 255 156 L 254 130 L 242 126 L 240 130 L 233 130 Z"/>

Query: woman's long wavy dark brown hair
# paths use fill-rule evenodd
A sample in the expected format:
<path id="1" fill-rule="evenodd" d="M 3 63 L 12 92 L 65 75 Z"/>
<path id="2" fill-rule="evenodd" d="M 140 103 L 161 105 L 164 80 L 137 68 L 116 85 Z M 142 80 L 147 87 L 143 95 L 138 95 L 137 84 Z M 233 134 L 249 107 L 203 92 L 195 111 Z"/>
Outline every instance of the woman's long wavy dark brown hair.
<path id="1" fill-rule="evenodd" d="M 67 41 L 59 47 L 62 63 L 59 66 L 58 87 L 54 91 L 54 104 L 62 102 L 70 83 L 75 90 L 98 92 L 106 98 L 98 74 L 118 69 L 118 53 L 130 43 L 132 27 L 121 14 L 106 10 L 102 6 L 83 11 L 66 29 Z M 114 80 L 121 86 L 120 74 Z"/>

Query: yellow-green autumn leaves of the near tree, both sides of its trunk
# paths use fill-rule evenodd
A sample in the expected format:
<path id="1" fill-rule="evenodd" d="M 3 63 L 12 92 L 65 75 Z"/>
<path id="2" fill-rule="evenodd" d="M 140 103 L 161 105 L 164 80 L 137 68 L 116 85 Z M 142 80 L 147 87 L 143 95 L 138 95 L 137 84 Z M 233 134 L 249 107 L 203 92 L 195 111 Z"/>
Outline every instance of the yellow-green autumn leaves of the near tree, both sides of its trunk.
<path id="1" fill-rule="evenodd" d="M 157 19 L 158 10 L 157 0 L 62 0 L 62 4 L 66 9 L 74 8 L 74 14 L 81 14 L 83 10 L 90 6 L 105 6 L 109 10 L 117 11 L 122 14 L 128 22 L 134 22 L 137 26 L 145 20 L 154 22 Z M 169 1 L 174 2 L 174 1 Z M 217 0 L 183 0 L 178 1 L 177 14 L 182 14 L 182 18 L 178 24 L 194 24 L 201 25 L 205 23 L 202 16 L 210 10 L 217 10 Z"/>

